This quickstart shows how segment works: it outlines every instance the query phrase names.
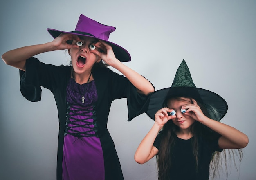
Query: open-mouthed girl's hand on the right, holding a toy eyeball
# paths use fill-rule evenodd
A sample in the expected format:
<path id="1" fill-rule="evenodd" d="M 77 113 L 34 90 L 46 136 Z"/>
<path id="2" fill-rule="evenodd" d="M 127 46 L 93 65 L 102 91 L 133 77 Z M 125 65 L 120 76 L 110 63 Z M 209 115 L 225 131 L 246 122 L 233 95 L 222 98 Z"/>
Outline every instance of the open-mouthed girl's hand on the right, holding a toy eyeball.
<path id="1" fill-rule="evenodd" d="M 112 47 L 109 44 L 99 40 L 94 44 L 94 46 L 96 46 L 96 49 L 90 50 L 90 52 L 98 55 L 105 63 L 110 66 L 112 66 L 112 63 L 115 63 L 115 60 L 117 59 L 115 57 Z"/>

